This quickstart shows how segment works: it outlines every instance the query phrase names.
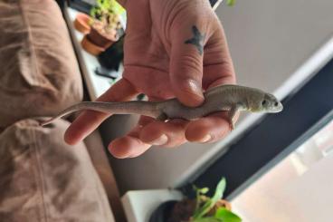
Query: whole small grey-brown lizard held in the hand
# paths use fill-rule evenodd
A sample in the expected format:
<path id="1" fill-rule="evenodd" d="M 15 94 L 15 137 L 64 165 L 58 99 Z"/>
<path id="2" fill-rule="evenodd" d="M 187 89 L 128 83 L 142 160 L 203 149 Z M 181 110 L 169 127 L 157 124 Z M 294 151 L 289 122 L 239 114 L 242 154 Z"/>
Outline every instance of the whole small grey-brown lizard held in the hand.
<path id="1" fill-rule="evenodd" d="M 274 113 L 283 110 L 283 105 L 271 93 L 241 85 L 219 85 L 207 90 L 205 101 L 198 107 L 187 107 L 176 98 L 166 101 L 83 101 L 61 111 L 42 126 L 74 111 L 91 110 L 112 114 L 139 114 L 158 121 L 184 119 L 193 121 L 216 111 L 228 111 L 231 129 L 238 111 Z"/>

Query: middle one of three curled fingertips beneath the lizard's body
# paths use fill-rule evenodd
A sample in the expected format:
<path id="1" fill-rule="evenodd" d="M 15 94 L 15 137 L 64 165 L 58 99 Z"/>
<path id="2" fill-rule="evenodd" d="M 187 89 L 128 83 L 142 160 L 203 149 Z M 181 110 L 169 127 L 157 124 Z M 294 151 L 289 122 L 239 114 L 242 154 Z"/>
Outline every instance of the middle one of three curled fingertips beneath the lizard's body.
<path id="1" fill-rule="evenodd" d="M 188 121 L 184 120 L 151 121 L 141 130 L 140 140 L 156 146 L 180 146 L 186 142 L 187 124 Z"/>

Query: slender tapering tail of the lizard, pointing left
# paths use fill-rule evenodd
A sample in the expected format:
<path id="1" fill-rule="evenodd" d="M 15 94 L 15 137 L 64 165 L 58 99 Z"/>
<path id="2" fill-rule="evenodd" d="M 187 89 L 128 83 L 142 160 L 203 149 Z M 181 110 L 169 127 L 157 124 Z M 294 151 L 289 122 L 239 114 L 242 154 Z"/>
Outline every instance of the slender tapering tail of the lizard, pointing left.
<path id="1" fill-rule="evenodd" d="M 63 116 L 71 114 L 75 111 L 100 111 L 108 114 L 139 114 L 157 118 L 157 103 L 150 101 L 123 101 L 123 102 L 102 102 L 102 101 L 83 101 L 72 105 L 71 107 L 61 111 L 58 115 L 52 117 L 48 121 L 43 121 L 40 125 L 45 126 L 52 121 L 61 119 Z"/>

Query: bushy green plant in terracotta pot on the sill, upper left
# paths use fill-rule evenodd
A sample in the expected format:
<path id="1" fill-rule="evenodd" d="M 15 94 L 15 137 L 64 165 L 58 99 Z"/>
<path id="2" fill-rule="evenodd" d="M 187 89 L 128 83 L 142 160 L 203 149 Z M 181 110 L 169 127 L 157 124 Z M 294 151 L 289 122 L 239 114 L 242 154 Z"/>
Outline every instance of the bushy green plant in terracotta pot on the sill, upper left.
<path id="1" fill-rule="evenodd" d="M 82 40 L 82 47 L 98 55 L 119 40 L 120 14 L 124 9 L 115 0 L 97 0 L 90 12 L 90 33 Z"/>

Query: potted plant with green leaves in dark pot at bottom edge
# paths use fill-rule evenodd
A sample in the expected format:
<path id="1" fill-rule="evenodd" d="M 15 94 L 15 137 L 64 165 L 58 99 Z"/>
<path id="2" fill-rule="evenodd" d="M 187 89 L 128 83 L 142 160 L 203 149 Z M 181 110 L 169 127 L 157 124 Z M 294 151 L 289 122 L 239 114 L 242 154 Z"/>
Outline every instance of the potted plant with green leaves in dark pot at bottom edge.
<path id="1" fill-rule="evenodd" d="M 149 222 L 241 222 L 242 219 L 231 211 L 231 204 L 222 199 L 225 186 L 225 179 L 221 179 L 212 198 L 205 196 L 208 188 L 194 187 L 195 199 L 163 203 Z"/>

